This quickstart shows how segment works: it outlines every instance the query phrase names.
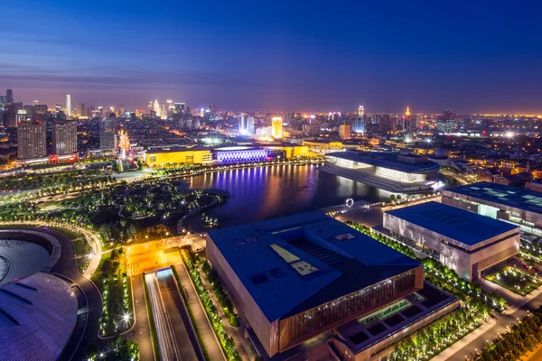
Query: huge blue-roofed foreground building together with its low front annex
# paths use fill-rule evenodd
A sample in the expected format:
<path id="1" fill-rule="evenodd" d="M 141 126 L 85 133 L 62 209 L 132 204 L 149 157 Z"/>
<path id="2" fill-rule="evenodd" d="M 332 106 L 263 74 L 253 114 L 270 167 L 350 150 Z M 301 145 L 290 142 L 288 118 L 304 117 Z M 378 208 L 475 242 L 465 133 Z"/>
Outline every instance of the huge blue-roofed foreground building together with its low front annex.
<path id="1" fill-rule="evenodd" d="M 212 230 L 206 254 L 264 358 L 312 339 L 320 357 L 369 360 L 457 307 L 416 260 L 318 211 Z"/>

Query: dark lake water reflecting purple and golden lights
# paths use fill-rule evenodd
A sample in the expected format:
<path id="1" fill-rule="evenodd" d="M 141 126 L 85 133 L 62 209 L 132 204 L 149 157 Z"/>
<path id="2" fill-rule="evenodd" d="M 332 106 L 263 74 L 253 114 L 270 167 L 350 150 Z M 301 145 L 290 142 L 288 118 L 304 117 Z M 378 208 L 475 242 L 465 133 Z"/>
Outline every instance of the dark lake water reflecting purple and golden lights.
<path id="1" fill-rule="evenodd" d="M 318 171 L 316 165 L 221 171 L 186 182 L 192 189 L 217 190 L 229 196 L 228 202 L 210 211 L 222 227 L 334 206 L 348 198 L 375 202 L 389 197 L 365 184 Z"/>

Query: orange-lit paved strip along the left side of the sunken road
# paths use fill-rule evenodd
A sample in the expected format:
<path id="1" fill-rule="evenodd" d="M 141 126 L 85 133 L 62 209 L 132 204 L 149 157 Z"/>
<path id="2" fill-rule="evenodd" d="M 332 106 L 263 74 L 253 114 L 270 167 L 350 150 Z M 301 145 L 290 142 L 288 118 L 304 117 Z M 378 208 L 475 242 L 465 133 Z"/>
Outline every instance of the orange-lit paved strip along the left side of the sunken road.
<path id="1" fill-rule="evenodd" d="M 139 344 L 139 357 L 141 361 L 153 361 L 153 341 L 151 339 L 151 329 L 149 328 L 149 318 L 145 304 L 143 278 L 141 274 L 136 274 L 131 277 L 131 280 L 132 291 L 134 293 L 135 325 L 124 336 Z"/>

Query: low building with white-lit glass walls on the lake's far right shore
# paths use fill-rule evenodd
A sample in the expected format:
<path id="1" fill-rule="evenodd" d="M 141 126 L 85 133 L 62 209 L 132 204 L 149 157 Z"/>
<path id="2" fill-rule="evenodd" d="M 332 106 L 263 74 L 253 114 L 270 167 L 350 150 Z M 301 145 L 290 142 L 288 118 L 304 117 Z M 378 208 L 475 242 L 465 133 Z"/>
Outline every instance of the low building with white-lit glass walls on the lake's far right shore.
<path id="1" fill-rule="evenodd" d="M 403 153 L 349 150 L 327 154 L 328 164 L 320 168 L 343 178 L 400 193 L 433 190 L 440 166 L 427 157 Z"/>

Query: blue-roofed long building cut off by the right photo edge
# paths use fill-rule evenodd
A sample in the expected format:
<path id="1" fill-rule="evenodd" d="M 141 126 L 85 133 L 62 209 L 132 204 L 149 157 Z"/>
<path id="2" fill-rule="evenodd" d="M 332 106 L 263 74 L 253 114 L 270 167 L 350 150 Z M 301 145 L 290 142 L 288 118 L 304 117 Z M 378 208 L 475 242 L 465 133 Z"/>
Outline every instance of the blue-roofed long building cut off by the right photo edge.
<path id="1" fill-rule="evenodd" d="M 510 222 L 523 232 L 542 236 L 542 197 L 537 191 L 481 181 L 443 190 L 443 203 Z"/>

